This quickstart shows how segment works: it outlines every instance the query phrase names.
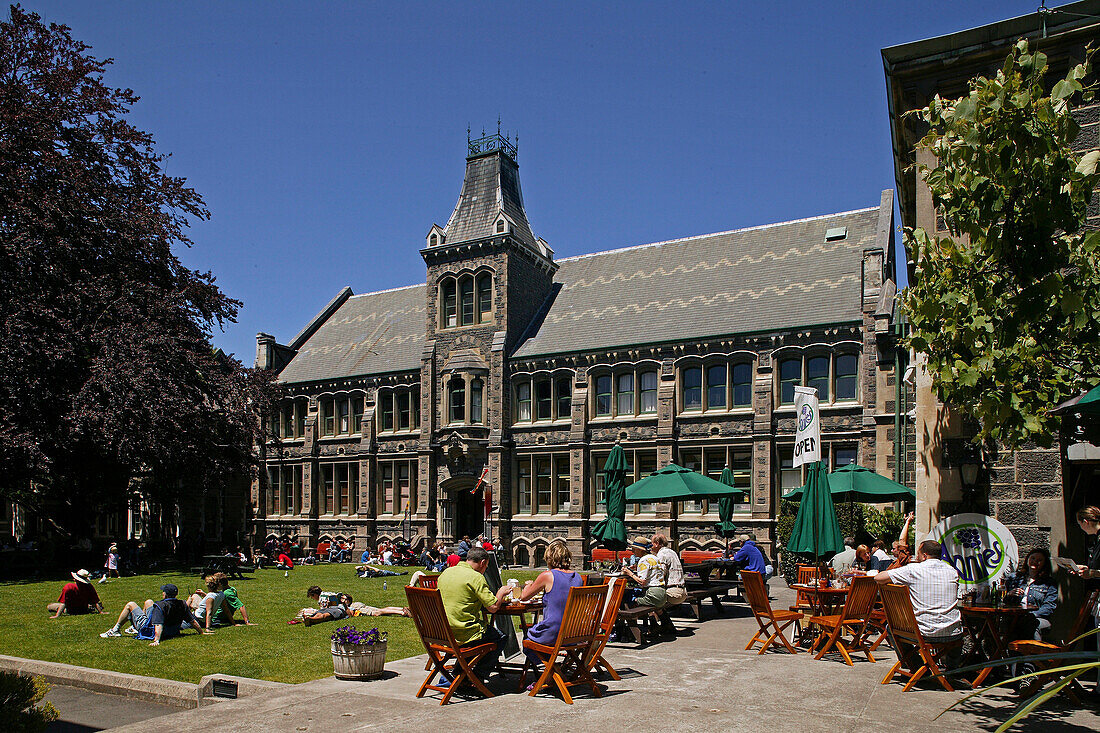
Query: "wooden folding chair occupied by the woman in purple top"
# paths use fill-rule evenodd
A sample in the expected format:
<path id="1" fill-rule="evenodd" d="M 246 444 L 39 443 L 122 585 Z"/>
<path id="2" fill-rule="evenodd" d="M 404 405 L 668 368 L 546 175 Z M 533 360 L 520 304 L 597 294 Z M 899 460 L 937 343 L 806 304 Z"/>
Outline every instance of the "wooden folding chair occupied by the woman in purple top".
<path id="1" fill-rule="evenodd" d="M 549 687 L 551 680 L 561 692 L 562 700 L 569 704 L 573 704 L 569 688 L 578 685 L 587 685 L 597 698 L 603 696 L 600 686 L 596 685 L 596 680 L 588 671 L 585 659 L 593 645 L 596 644 L 596 637 L 600 634 L 601 611 L 606 594 L 607 589 L 603 586 L 570 588 L 569 598 L 565 600 L 565 611 L 561 617 L 561 628 L 558 631 L 558 641 L 554 642 L 553 646 L 524 639 L 525 649 L 537 652 L 546 658 L 542 674 L 531 687 L 531 697 L 538 694 L 542 688 Z M 530 659 L 527 664 L 531 664 Z M 520 676 L 520 686 L 526 677 L 527 666 L 524 667 L 524 674 Z"/>

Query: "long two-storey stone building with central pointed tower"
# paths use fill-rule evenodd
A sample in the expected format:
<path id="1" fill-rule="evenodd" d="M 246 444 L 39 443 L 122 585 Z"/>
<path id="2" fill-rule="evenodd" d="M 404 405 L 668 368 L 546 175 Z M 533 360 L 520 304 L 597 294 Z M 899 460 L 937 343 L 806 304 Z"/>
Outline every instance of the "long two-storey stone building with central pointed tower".
<path id="1" fill-rule="evenodd" d="M 254 486 L 260 538 L 452 543 L 486 529 L 487 484 L 516 562 L 541 564 L 556 537 L 587 556 L 618 442 L 634 478 L 728 464 L 749 490 L 736 523 L 770 547 L 780 488 L 802 483 L 795 384 L 818 387 L 831 466 L 912 485 L 912 462 L 894 458 L 906 419 L 892 192 L 559 260 L 531 231 L 516 157 L 498 134 L 470 143 L 458 204 L 420 249 L 425 283 L 344 288 L 288 343 L 257 336 L 257 364 L 288 394 Z M 627 508 L 631 533 L 681 547 L 721 546 L 716 521 L 706 502 Z"/>

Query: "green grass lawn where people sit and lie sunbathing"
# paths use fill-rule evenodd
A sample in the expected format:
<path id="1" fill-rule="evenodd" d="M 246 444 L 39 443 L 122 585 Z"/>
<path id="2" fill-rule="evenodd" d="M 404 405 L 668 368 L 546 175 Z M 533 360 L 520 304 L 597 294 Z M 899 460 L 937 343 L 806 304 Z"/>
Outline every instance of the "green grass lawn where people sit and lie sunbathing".
<path id="1" fill-rule="evenodd" d="M 416 568 L 411 568 L 416 570 Z M 506 570 L 505 578 L 534 578 L 535 572 Z M 123 634 L 120 638 L 100 638 L 100 632 L 113 625 L 127 601 L 143 603 L 146 598 L 160 599 L 163 583 L 179 587 L 180 597 L 194 591 L 199 579 L 175 572 L 111 579 L 97 584 L 107 613 L 84 616 L 62 616 L 48 620 L 46 604 L 57 600 L 67 576 L 50 581 L 15 581 L 0 583 L 0 650 L 3 654 L 63 661 L 81 667 L 165 677 L 185 682 L 198 682 L 204 675 L 239 675 L 278 682 L 305 682 L 332 675 L 329 635 L 345 622 L 329 622 L 305 627 L 288 626 L 287 620 L 298 609 L 310 605 L 306 589 L 320 586 L 324 590 L 350 593 L 356 601 L 371 605 L 405 605 L 405 583 L 408 576 L 361 579 L 354 566 L 301 566 L 290 571 L 257 570 L 234 581 L 233 586 L 256 626 L 222 627 L 212 636 L 199 636 L 194 631 L 151 647 Z M 387 589 L 383 590 L 383 580 Z M 410 619 L 402 616 L 361 616 L 352 624 L 360 628 L 377 626 L 389 634 L 387 659 L 400 659 L 424 653 Z"/>

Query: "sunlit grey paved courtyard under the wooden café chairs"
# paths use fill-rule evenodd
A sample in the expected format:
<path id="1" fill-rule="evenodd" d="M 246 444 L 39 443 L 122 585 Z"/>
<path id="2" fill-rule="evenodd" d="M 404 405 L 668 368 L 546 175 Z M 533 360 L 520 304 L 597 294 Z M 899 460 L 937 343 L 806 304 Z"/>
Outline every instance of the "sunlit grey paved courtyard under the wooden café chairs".
<path id="1" fill-rule="evenodd" d="M 789 603 L 787 589 L 776 603 Z M 440 708 L 438 698 L 417 700 L 425 657 L 388 663 L 386 679 L 342 682 L 334 678 L 296 685 L 234 701 L 174 713 L 155 721 L 160 732 L 209 730 L 228 721 L 241 732 L 271 731 L 943 731 L 992 730 L 1009 715 L 1010 693 L 934 720 L 963 697 L 931 685 L 906 693 L 879 685 L 892 664 L 814 661 L 809 654 L 758 656 L 744 647 L 756 626 L 741 605 L 703 623 L 679 621 L 675 641 L 646 648 L 609 647 L 622 681 L 605 681 L 604 697 L 581 693 L 568 705 L 550 696 L 515 692 L 516 678 L 491 685 L 498 697 L 460 699 Z M 878 656 L 878 655 L 877 655 Z M 117 729 L 150 730 L 153 721 Z M 1096 731 L 1097 707 L 1075 710 L 1059 702 L 1014 730 Z"/>

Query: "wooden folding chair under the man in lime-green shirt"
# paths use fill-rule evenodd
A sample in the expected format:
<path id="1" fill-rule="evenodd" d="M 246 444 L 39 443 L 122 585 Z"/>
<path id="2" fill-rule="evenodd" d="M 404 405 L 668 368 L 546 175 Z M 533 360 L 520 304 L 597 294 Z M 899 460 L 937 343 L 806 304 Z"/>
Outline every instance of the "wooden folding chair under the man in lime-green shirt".
<path id="1" fill-rule="evenodd" d="M 486 642 L 460 646 L 454 638 L 454 632 L 451 631 L 451 624 L 447 621 L 443 600 L 438 589 L 406 586 L 405 595 L 409 601 L 413 623 L 416 624 L 424 648 L 428 652 L 428 663 L 431 665 L 416 697 L 424 697 L 426 690 L 442 692 L 443 699 L 439 704 L 446 705 L 455 690 L 463 685 L 470 685 L 485 697 L 492 698 L 493 693 L 473 668 L 483 656 L 495 650 L 495 645 Z M 450 683 L 431 685 L 431 679 L 436 675 L 441 679 L 450 679 Z"/>

